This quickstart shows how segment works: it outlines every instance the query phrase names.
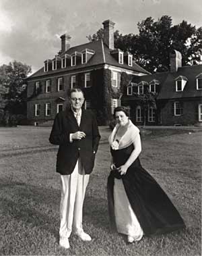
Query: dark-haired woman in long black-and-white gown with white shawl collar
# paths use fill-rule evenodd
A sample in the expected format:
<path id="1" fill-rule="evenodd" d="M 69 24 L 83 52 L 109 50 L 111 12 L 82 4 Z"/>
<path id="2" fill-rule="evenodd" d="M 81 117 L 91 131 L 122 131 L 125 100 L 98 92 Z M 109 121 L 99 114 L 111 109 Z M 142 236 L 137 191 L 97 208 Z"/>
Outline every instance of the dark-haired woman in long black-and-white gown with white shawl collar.
<path id="1" fill-rule="evenodd" d="M 184 221 L 159 184 L 139 161 L 139 129 L 125 107 L 114 109 L 116 126 L 110 134 L 112 154 L 108 176 L 108 209 L 113 230 L 127 234 L 128 242 L 143 234 L 163 234 L 184 228 Z"/>

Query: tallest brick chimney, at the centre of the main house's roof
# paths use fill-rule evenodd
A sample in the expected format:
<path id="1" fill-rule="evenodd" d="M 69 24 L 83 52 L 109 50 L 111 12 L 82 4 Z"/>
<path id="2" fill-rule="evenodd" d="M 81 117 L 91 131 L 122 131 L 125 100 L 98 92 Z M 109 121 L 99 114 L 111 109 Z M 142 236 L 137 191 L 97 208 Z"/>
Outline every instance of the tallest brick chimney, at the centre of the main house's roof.
<path id="1" fill-rule="evenodd" d="M 109 49 L 114 50 L 114 22 L 110 20 L 105 20 L 102 22 L 104 26 L 104 43 Z"/>

